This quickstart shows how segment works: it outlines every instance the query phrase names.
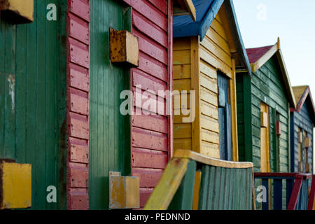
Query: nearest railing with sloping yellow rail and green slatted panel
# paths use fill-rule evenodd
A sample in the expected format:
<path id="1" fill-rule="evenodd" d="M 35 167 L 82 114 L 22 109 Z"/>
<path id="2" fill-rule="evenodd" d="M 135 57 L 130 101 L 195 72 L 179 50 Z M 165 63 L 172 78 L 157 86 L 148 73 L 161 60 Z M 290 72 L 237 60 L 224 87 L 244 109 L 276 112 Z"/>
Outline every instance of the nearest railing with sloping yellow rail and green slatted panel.
<path id="1" fill-rule="evenodd" d="M 253 163 L 177 150 L 146 203 L 146 210 L 255 209 Z"/>

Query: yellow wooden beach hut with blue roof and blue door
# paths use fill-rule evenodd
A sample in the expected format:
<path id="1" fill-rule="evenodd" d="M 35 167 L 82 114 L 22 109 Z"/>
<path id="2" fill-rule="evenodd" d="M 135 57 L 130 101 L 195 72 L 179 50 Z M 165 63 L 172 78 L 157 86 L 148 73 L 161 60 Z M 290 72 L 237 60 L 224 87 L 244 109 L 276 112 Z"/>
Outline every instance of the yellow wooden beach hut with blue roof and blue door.
<path id="1" fill-rule="evenodd" d="M 193 3 L 196 22 L 187 15 L 173 22 L 174 151 L 238 161 L 236 77 L 238 71 L 251 73 L 251 67 L 234 6 L 229 0 Z M 190 108 L 192 118 L 186 116 Z"/>

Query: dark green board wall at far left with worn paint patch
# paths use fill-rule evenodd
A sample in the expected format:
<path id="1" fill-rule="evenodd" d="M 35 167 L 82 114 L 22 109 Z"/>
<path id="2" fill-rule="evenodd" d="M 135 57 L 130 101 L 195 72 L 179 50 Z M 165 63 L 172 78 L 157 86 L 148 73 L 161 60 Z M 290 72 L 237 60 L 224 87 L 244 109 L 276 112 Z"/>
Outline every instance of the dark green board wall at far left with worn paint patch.
<path id="1" fill-rule="evenodd" d="M 46 20 L 48 3 L 57 22 Z M 66 209 L 65 12 L 64 1 L 35 0 L 33 23 L 0 21 L 0 158 L 32 165 L 31 209 Z"/>

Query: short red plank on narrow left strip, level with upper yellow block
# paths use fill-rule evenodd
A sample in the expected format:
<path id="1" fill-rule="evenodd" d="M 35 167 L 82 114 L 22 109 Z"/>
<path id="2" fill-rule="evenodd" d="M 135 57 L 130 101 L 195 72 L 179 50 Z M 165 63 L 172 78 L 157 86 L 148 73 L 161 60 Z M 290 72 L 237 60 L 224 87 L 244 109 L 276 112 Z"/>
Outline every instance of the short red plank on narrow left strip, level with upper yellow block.
<path id="1" fill-rule="evenodd" d="M 90 53 L 88 45 L 80 43 L 73 38 L 68 38 L 69 41 L 69 57 L 70 62 L 90 68 Z"/>

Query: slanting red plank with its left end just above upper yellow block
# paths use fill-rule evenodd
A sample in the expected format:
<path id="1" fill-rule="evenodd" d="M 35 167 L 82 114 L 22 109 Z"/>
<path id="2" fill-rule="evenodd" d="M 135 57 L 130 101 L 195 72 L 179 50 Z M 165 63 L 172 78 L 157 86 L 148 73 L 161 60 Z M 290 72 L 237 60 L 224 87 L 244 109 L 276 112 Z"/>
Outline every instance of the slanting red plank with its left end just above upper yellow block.
<path id="1" fill-rule="evenodd" d="M 167 48 L 167 33 L 157 25 L 153 24 L 150 20 L 144 18 L 143 15 L 133 11 L 132 25 Z"/>

